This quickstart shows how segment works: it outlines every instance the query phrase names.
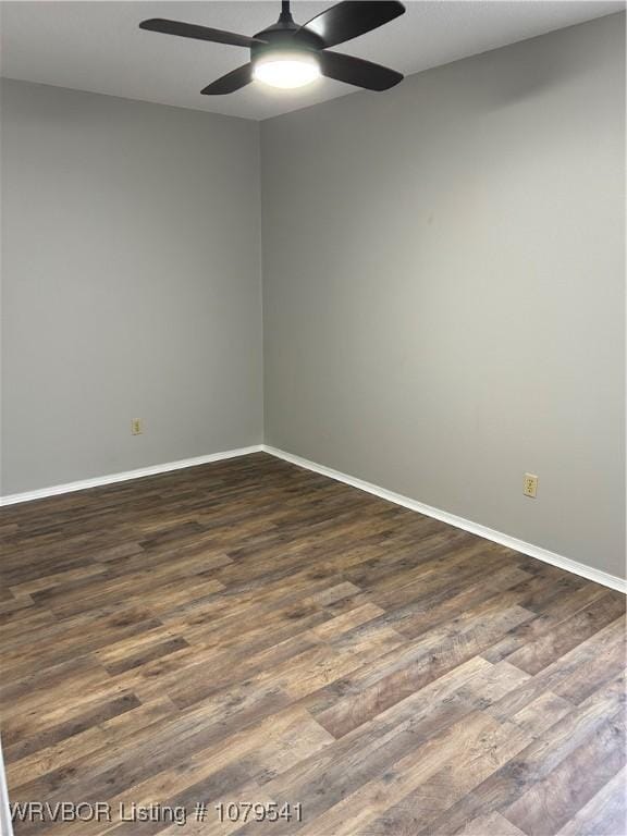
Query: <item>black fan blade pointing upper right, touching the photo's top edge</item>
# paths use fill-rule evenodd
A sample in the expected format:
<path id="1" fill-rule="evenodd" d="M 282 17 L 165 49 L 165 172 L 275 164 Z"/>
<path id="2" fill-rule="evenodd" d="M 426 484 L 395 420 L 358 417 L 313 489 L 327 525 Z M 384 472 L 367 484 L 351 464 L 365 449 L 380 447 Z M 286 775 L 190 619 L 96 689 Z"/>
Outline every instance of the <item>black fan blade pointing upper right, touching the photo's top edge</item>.
<path id="1" fill-rule="evenodd" d="M 396 0 L 345 0 L 312 17 L 300 28 L 314 32 L 322 38 L 325 47 L 334 47 L 377 29 L 404 13 L 405 7 Z"/>

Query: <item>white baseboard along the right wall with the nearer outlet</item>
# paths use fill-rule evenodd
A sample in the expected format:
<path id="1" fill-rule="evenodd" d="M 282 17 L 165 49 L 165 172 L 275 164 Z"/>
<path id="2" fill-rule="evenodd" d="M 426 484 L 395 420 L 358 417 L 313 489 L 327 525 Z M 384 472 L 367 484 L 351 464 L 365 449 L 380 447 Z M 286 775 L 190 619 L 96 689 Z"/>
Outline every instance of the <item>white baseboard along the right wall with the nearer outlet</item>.
<path id="1" fill-rule="evenodd" d="M 492 528 L 487 528 L 478 522 L 472 522 L 464 517 L 458 517 L 455 514 L 450 514 L 447 511 L 441 511 L 440 508 L 433 508 L 431 505 L 425 505 L 422 502 L 411 500 L 408 496 L 403 496 L 399 493 L 388 491 L 385 488 L 379 488 L 377 484 L 365 482 L 362 479 L 356 479 L 347 474 L 342 474 L 340 470 L 333 470 L 331 467 L 324 465 L 318 465 L 315 462 L 309 462 L 300 456 L 295 456 L 292 453 L 285 453 L 283 450 L 265 445 L 263 450 L 276 458 L 282 458 L 285 462 L 290 462 L 293 465 L 298 465 L 307 470 L 314 470 L 316 474 L 328 476 L 330 479 L 335 479 L 339 482 L 344 482 L 353 488 L 358 488 L 360 491 L 372 493 L 374 496 L 380 496 L 383 500 L 393 502 L 396 505 L 402 505 L 404 508 L 410 508 L 417 511 L 420 514 L 425 514 L 428 517 L 440 519 L 443 522 L 447 522 L 455 528 L 462 528 L 465 531 L 469 531 L 472 534 L 482 537 L 485 540 L 492 540 L 494 543 L 505 545 L 508 549 L 513 549 L 516 552 L 528 554 L 530 557 L 537 557 L 539 561 L 550 563 L 552 566 L 557 566 L 560 569 L 571 571 L 574 575 L 579 575 L 588 580 L 593 580 L 595 583 L 601 583 L 610 589 L 615 589 L 618 592 L 627 593 L 627 580 L 617 577 L 616 575 L 610 575 L 607 571 L 595 569 L 592 566 L 587 566 L 585 563 L 578 561 L 571 561 L 569 557 L 564 557 L 561 554 L 551 552 L 548 549 L 542 549 L 539 545 L 532 543 L 526 543 L 524 540 L 518 540 L 509 534 L 504 534 L 501 531 L 495 531 Z"/>

